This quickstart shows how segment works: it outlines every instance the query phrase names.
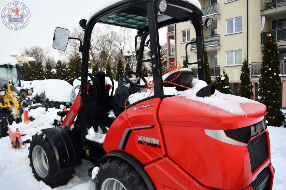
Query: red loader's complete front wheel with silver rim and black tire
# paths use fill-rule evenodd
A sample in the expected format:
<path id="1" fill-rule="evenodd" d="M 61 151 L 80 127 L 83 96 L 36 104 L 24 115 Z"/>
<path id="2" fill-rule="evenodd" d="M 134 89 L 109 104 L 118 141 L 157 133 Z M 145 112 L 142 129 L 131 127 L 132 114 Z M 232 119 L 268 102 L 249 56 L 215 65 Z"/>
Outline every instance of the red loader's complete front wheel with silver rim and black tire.
<path id="1" fill-rule="evenodd" d="M 54 188 L 66 184 L 72 179 L 74 169 L 57 172 L 55 152 L 48 138 L 42 134 L 32 136 L 29 158 L 32 172 L 38 181 L 43 181 Z"/>

